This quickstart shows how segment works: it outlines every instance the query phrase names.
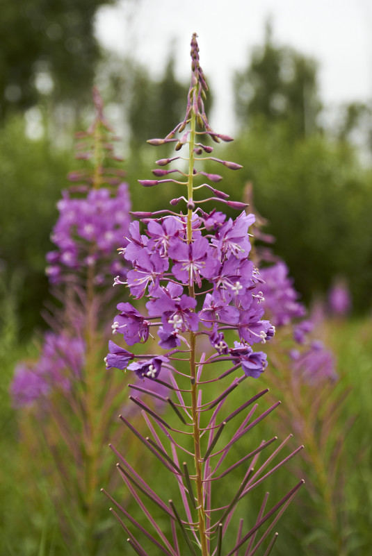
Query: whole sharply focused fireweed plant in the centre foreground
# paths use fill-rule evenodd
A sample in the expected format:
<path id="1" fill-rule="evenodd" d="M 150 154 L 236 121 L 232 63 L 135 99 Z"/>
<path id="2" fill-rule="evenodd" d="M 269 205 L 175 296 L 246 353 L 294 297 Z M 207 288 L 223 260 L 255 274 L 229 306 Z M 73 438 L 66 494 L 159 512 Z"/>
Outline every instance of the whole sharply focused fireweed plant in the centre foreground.
<path id="1" fill-rule="evenodd" d="M 264 389 L 232 412 L 226 407 L 227 399 L 244 380 L 257 378 L 266 369 L 266 354 L 254 351 L 252 346 L 270 341 L 275 330 L 262 318 L 262 280 L 249 258 L 248 228 L 254 216 L 245 214 L 245 203 L 229 201 L 227 194 L 216 189 L 215 184 L 221 179 L 218 174 L 202 171 L 204 160 L 213 160 L 232 170 L 241 166 L 214 158 L 211 156 L 213 147 L 206 144 L 208 139 L 217 143 L 232 139 L 215 133 L 205 115 L 203 99 L 207 84 L 200 67 L 195 34 L 191 58 L 191 86 L 184 120 L 165 138 L 149 140 L 149 144 L 155 146 L 175 144 L 177 154 L 156 161 L 160 167 L 153 171 L 156 179 L 140 180 L 144 187 L 177 183 L 185 194 L 172 199 L 170 205 L 175 207 L 183 201 L 186 214 L 173 210 L 134 213 L 142 222 L 144 233 L 139 221 L 129 227 L 129 243 L 123 249 L 123 256 L 131 269 L 126 280 L 117 277 L 114 283 L 125 285 L 135 299 L 146 297 L 148 301 L 143 312 L 131 303 L 120 303 L 113 333 L 116 337 L 122 335 L 127 346 L 145 344 L 149 337 L 157 335 L 162 351 L 135 354 L 110 341 L 106 357 L 107 369 L 127 369 L 138 378 L 149 379 L 168 389 L 165 396 L 153 394 L 169 407 L 167 419 L 138 397 L 143 391 L 152 394 L 145 386 L 129 385 L 132 390 L 129 398 L 140 407 L 150 436 L 141 435 L 126 417 L 120 416 L 120 419 L 149 450 L 149 457 L 154 458 L 154 462 L 158 460 L 172 475 L 179 487 L 181 506 L 176 500 L 163 500 L 159 494 L 159 490 L 164 490 L 162 485 L 150 486 L 129 464 L 127 457 L 115 448 L 118 471 L 148 525 L 141 525 L 104 492 L 115 505 L 111 510 L 127 533 L 128 543 L 140 556 L 154 553 L 232 556 L 243 546 L 245 555 L 253 555 L 259 547 L 263 548 L 262 544 L 303 481 L 270 509 L 266 508 L 266 494 L 257 518 L 251 523 L 245 523 L 249 521 L 246 518 L 240 519 L 234 528 L 232 546 L 225 546 L 226 539 L 231 538 L 229 525 L 234 512 L 248 493 L 296 455 L 302 446 L 273 467 L 271 462 L 289 437 L 270 455 L 267 455 L 268 447 L 277 437 L 259 442 L 240 460 L 234 460 L 238 441 L 280 403 L 254 416 L 256 401 L 267 392 Z M 181 156 L 179 152 L 183 147 L 186 153 Z M 182 166 L 167 169 L 173 161 Z M 207 190 L 212 196 L 196 200 L 196 189 Z M 223 203 L 240 214 L 233 220 L 215 208 L 205 212 L 202 206 L 207 201 Z M 168 375 L 168 385 L 159 378 L 159 373 L 164 371 Z M 216 385 L 223 386 L 218 389 L 217 396 L 211 397 Z M 236 424 L 238 419 L 242 420 Z M 151 460 L 148 467 L 151 478 Z M 233 484 L 232 479 L 239 471 L 242 472 L 240 486 L 232 492 L 228 485 Z M 215 507 L 214 494 L 218 494 L 223 485 L 229 489 L 228 499 Z M 156 516 L 154 510 L 170 520 L 168 534 L 160 525 L 162 518 Z M 268 540 L 266 555 L 276 538 L 274 534 Z M 146 548 L 147 542 L 152 548 Z"/>

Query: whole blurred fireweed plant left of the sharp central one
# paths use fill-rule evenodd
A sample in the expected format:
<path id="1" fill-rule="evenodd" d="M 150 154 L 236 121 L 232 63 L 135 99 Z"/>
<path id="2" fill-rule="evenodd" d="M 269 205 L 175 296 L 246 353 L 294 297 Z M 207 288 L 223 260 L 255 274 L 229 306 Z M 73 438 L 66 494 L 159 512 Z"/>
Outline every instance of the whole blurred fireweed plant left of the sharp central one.
<path id="1" fill-rule="evenodd" d="M 112 253 L 125 245 L 130 222 L 127 184 L 113 167 L 115 136 L 97 90 L 93 100 L 95 120 L 76 144 L 84 169 L 69 176 L 74 185 L 63 192 L 51 235 L 56 250 L 47 255 L 59 303 L 45 314 L 50 330 L 38 361 L 19 364 L 11 385 L 25 457 L 46 478 L 60 531 L 76 554 L 98 554 L 107 541 L 102 447 L 115 435 L 111 409 L 121 407 L 122 385 L 100 369 L 115 299 L 112 273 L 124 277 L 128 266 L 113 262 Z"/>

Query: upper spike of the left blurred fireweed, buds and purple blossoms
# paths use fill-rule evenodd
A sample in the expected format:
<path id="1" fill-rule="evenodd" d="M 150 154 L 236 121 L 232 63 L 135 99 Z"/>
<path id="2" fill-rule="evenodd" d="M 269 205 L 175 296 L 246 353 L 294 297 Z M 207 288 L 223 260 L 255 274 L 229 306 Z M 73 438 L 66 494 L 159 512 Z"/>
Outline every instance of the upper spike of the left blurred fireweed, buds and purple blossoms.
<path id="1" fill-rule="evenodd" d="M 125 246 L 131 202 L 125 173 L 112 167 L 122 160 L 113 151 L 111 126 L 104 116 L 104 104 L 98 90 L 93 90 L 95 120 L 88 130 L 76 134 L 76 158 L 86 167 L 70 172 L 68 178 L 76 185 L 63 192 L 57 208 L 58 221 L 51 233 L 56 251 L 47 254 L 47 276 L 51 283 L 76 281 L 94 276 L 95 284 L 107 282 L 108 276 L 125 276 L 120 261 L 113 262 L 112 253 L 118 245 Z M 90 165 L 91 167 L 87 167 Z"/>

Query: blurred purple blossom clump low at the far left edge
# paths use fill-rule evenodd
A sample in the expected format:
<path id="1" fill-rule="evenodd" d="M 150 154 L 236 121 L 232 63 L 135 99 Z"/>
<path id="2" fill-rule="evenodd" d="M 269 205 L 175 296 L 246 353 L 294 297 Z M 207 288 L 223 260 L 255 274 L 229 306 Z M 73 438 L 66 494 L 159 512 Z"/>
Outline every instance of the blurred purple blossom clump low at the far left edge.
<path id="1" fill-rule="evenodd" d="M 10 393 L 15 407 L 33 405 L 51 391 L 68 391 L 81 377 L 85 360 L 82 339 L 65 332 L 46 332 L 38 361 L 17 365 Z"/>

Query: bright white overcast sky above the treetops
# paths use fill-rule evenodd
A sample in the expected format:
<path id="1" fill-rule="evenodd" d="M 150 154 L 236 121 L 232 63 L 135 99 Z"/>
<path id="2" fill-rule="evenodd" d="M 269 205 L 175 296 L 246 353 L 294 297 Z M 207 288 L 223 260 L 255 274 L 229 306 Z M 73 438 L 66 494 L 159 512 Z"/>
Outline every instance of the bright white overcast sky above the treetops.
<path id="1" fill-rule="evenodd" d="M 161 74 L 172 45 L 177 76 L 185 79 L 195 31 L 215 96 L 212 125 L 229 133 L 232 74 L 247 65 L 252 47 L 263 43 L 269 16 L 275 41 L 320 62 L 326 106 L 371 99 L 372 0 L 124 0 L 99 10 L 96 33 L 105 47 L 130 54 L 154 76 Z"/>

